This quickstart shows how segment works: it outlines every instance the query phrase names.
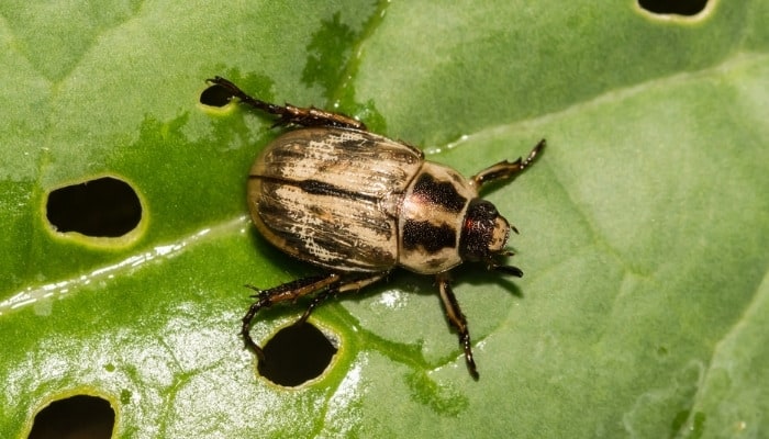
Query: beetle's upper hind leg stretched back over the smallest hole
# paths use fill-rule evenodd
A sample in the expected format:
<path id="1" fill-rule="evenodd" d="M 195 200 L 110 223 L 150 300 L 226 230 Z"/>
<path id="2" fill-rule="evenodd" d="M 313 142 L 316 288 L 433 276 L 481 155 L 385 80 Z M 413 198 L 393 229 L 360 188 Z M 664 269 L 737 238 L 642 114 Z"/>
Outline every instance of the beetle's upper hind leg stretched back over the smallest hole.
<path id="1" fill-rule="evenodd" d="M 316 109 L 314 106 L 293 106 L 290 103 L 287 103 L 286 105 L 276 105 L 274 103 L 252 98 L 241 90 L 239 87 L 219 76 L 212 79 L 207 79 L 207 82 L 224 87 L 225 89 L 230 90 L 232 98 L 237 98 L 246 105 L 279 116 L 275 125 L 294 124 L 301 126 L 335 126 L 338 128 L 366 131 L 366 124 L 342 113 L 333 113 Z"/>

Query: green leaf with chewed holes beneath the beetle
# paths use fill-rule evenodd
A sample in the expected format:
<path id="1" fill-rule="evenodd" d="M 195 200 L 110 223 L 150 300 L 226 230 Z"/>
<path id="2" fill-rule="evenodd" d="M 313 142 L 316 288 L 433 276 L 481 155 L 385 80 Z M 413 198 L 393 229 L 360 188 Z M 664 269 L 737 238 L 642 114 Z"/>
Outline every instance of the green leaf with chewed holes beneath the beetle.
<path id="1" fill-rule="evenodd" d="M 456 2 L 455 2 L 456 3 Z M 0 431 L 73 394 L 118 437 L 734 437 L 769 429 L 767 2 L 0 5 Z M 199 103 L 227 77 L 356 115 L 470 176 L 525 277 L 454 273 L 481 378 L 430 279 L 313 313 L 338 338 L 301 389 L 258 376 L 245 283 L 313 272 L 253 229 L 270 117 Z M 124 238 L 52 229 L 47 194 L 127 181 Z M 266 340 L 307 302 L 257 316 Z"/>

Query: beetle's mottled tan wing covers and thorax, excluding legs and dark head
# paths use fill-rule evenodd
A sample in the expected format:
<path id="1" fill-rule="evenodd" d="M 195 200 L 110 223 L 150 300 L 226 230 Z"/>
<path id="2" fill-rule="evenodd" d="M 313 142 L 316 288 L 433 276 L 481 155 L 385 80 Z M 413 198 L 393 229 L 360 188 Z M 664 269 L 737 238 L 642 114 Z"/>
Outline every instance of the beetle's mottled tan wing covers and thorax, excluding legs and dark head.
<path id="1" fill-rule="evenodd" d="M 422 151 L 376 134 L 305 128 L 276 138 L 248 179 L 254 224 L 283 251 L 335 271 L 394 266 L 436 274 L 461 263 L 459 238 L 478 191 Z M 500 227 L 499 247 L 509 226 Z"/>

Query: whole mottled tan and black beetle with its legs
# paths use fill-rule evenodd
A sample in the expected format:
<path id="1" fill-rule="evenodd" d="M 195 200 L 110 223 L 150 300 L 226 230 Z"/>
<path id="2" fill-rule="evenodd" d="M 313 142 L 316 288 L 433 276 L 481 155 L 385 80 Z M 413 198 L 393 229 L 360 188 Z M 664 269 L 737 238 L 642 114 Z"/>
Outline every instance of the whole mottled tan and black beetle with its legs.
<path id="1" fill-rule="evenodd" d="M 314 294 L 298 323 L 324 300 L 370 285 L 397 267 L 435 275 L 448 322 L 456 328 L 470 375 L 478 379 L 467 319 L 450 285 L 449 272 L 462 262 L 481 262 L 522 277 L 499 262 L 514 226 L 478 191 L 526 169 L 545 147 L 539 140 L 526 159 L 501 161 L 465 179 L 456 170 L 424 159 L 403 142 L 369 132 L 342 113 L 277 105 L 246 94 L 233 82 L 208 79 L 255 110 L 277 116 L 274 126 L 294 126 L 261 150 L 248 175 L 248 209 L 258 232 L 280 250 L 324 269 L 268 290 L 254 291 L 243 317 L 246 348 L 266 361 L 250 336 L 259 309 Z"/>

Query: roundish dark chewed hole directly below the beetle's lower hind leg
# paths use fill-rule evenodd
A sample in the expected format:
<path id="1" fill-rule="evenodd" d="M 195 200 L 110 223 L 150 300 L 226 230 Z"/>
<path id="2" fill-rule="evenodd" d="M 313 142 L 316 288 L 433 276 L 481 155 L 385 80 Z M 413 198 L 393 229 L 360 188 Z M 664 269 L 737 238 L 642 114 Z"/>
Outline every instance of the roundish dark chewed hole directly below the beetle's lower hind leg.
<path id="1" fill-rule="evenodd" d="M 301 385 L 320 376 L 331 364 L 336 346 L 310 323 L 280 329 L 264 346 L 265 361 L 259 374 L 288 387 Z"/>

